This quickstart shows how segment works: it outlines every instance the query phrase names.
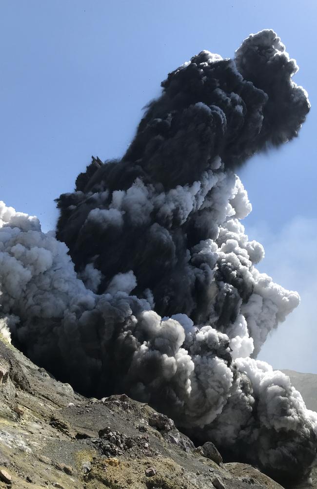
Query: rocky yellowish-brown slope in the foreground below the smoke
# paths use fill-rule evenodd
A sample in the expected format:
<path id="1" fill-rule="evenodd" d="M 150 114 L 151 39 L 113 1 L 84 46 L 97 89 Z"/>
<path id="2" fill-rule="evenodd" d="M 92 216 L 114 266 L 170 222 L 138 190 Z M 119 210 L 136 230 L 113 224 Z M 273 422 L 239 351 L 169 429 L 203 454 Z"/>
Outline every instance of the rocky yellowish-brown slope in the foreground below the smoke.
<path id="1" fill-rule="evenodd" d="M 125 394 L 86 399 L 0 338 L 0 488 L 281 489 Z"/>

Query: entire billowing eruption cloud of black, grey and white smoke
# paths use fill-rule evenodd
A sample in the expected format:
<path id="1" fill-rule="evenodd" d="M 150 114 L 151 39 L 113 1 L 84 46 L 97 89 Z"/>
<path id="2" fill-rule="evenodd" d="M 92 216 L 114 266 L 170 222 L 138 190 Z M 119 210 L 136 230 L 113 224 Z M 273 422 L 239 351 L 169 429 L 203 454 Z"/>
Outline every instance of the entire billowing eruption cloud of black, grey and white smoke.
<path id="1" fill-rule="evenodd" d="M 297 136 L 296 71 L 272 30 L 234 60 L 202 51 L 162 82 L 123 158 L 93 158 L 59 197 L 58 239 L 0 206 L 0 332 L 81 393 L 126 392 L 292 482 L 314 464 L 317 415 L 255 358 L 299 297 L 255 267 L 235 172 Z"/>

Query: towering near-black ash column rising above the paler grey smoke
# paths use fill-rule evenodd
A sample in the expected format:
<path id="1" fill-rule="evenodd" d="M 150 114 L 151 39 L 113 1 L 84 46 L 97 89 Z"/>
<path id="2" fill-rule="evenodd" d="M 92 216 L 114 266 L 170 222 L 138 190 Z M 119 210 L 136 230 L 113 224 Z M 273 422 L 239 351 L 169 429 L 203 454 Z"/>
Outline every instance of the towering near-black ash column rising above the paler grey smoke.
<path id="1" fill-rule="evenodd" d="M 230 170 L 297 135 L 309 103 L 296 71 L 269 30 L 245 40 L 235 60 L 202 51 L 162 82 L 122 160 L 93 161 L 76 192 L 60 196 L 58 238 L 83 276 L 87 264 L 101 272 L 99 293 L 132 270 L 130 291 L 147 298 L 150 289 L 162 316 L 182 312 L 221 331 L 235 321 L 254 279 L 198 258 L 196 247 L 219 239 L 228 200 L 244 192 L 240 183 L 233 191 Z"/>

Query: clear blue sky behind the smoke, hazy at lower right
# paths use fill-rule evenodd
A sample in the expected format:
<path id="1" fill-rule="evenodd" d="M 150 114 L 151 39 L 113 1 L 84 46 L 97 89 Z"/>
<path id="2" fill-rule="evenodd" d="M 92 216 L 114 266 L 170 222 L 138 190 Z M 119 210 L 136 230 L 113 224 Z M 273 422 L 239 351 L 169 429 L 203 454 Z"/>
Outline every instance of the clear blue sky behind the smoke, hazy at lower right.
<path id="1" fill-rule="evenodd" d="M 57 219 L 54 199 L 90 162 L 121 156 L 166 74 L 202 49 L 232 57 L 273 28 L 300 67 L 312 110 L 300 136 L 253 158 L 239 176 L 260 264 L 301 305 L 259 358 L 317 373 L 317 63 L 315 0 L 1 0 L 0 200 Z"/>

